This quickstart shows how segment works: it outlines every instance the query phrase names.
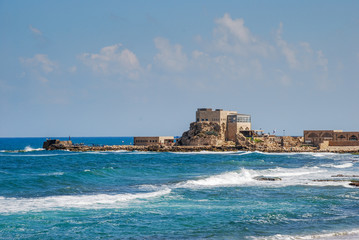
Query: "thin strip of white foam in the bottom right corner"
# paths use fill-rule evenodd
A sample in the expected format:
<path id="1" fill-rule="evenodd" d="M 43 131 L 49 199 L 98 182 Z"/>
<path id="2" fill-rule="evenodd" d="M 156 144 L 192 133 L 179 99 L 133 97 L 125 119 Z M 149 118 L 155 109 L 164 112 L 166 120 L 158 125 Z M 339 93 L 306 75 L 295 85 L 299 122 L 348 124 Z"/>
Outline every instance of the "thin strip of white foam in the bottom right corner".
<path id="1" fill-rule="evenodd" d="M 359 239 L 359 230 L 349 230 L 342 232 L 323 232 L 312 235 L 281 235 L 276 234 L 269 237 L 248 237 L 253 240 L 309 240 L 309 239 L 323 239 L 323 240 L 354 240 Z"/>

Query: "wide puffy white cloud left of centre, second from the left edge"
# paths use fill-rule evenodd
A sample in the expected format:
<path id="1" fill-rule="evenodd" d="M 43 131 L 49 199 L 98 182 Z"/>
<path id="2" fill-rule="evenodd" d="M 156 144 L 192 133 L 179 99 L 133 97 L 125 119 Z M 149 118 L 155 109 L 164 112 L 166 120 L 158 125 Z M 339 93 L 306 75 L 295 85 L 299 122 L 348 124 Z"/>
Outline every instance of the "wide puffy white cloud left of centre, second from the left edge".
<path id="1" fill-rule="evenodd" d="M 79 58 L 94 72 L 138 78 L 141 66 L 136 55 L 127 48 L 120 50 L 121 46 L 122 44 L 107 46 L 100 53 L 83 53 Z"/>

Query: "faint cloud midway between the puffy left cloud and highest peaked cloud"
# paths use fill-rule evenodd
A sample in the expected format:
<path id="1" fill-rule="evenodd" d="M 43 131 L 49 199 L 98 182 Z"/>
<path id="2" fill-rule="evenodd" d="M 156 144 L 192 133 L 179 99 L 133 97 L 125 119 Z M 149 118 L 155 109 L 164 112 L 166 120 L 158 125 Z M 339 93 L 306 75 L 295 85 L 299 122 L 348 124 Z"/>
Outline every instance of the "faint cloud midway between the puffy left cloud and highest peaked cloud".
<path id="1" fill-rule="evenodd" d="M 167 70 L 182 71 L 188 63 L 182 46 L 179 44 L 171 45 L 168 39 L 157 37 L 154 39 L 158 53 L 154 57 L 155 63 Z"/>

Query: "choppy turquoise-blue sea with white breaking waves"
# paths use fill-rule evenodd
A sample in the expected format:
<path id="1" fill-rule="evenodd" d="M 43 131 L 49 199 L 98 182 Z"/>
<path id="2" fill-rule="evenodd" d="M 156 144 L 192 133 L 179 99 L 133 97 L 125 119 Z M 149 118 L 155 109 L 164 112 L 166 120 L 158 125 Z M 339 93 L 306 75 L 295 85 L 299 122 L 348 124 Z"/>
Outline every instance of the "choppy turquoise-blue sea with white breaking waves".
<path id="1" fill-rule="evenodd" d="M 0 239 L 359 239 L 359 155 L 46 151 L 45 140 L 0 138 Z"/>

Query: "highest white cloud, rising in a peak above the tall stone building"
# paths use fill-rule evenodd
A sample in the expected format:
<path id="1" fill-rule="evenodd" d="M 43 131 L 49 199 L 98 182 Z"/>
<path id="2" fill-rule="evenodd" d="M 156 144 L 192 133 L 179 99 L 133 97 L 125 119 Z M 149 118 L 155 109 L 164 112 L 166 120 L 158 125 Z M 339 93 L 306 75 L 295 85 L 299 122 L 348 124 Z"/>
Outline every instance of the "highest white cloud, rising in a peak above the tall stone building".
<path id="1" fill-rule="evenodd" d="M 215 20 L 214 47 L 219 51 L 236 53 L 240 55 L 261 55 L 267 56 L 272 47 L 258 38 L 245 27 L 241 18 L 232 19 L 226 13 L 222 18 Z"/>

